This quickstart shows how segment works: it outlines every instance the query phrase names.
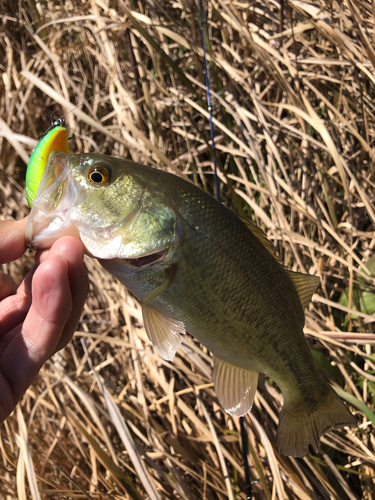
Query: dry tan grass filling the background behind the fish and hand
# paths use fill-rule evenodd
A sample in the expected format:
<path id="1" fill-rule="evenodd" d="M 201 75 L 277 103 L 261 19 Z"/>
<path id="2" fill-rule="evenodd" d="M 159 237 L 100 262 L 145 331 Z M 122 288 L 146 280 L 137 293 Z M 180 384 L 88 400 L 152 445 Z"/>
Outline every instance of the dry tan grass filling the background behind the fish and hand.
<path id="1" fill-rule="evenodd" d="M 320 276 L 306 334 L 359 423 L 328 433 L 317 456 L 279 456 L 282 397 L 261 379 L 246 417 L 255 499 L 373 499 L 374 2 L 205 10 L 221 197 L 288 266 Z M 213 192 L 194 2 L 2 0 L 0 13 L 1 218 L 28 212 L 26 164 L 54 110 L 72 151 L 178 171 Z M 32 261 L 6 269 L 21 280 Z M 0 497 L 244 499 L 239 423 L 215 398 L 210 354 L 186 338 L 163 361 L 137 301 L 87 265 L 79 331 L 1 426 Z"/>

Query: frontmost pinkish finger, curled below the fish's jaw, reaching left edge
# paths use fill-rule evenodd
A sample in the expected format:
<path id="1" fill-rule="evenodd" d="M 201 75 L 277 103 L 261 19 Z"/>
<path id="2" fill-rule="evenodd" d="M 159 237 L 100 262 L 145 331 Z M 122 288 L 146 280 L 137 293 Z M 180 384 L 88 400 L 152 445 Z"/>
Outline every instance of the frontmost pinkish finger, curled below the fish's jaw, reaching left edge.
<path id="1" fill-rule="evenodd" d="M 23 325 L 0 342 L 0 420 L 12 410 L 55 350 L 72 312 L 68 263 L 62 257 L 48 259 L 38 267 L 32 297 Z"/>

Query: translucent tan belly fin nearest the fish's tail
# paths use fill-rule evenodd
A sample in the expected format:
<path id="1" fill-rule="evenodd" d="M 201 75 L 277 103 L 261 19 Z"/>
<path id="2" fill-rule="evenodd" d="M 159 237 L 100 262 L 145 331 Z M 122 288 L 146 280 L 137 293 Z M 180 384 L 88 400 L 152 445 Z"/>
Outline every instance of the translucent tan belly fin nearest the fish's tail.
<path id="1" fill-rule="evenodd" d="M 216 395 L 226 412 L 242 417 L 251 410 L 258 384 L 258 372 L 246 370 L 214 356 L 213 379 Z"/>

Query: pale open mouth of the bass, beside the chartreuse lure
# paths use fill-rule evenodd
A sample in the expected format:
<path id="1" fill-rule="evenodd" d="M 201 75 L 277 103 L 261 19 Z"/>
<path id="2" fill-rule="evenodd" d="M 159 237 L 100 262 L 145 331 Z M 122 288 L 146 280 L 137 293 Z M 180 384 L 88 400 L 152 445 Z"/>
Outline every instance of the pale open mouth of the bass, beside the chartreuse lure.
<path id="1" fill-rule="evenodd" d="M 69 155 L 53 151 L 33 200 L 26 226 L 26 245 L 43 249 L 51 247 L 62 236 L 79 238 L 72 211 L 82 196 L 79 184 L 70 176 Z"/>

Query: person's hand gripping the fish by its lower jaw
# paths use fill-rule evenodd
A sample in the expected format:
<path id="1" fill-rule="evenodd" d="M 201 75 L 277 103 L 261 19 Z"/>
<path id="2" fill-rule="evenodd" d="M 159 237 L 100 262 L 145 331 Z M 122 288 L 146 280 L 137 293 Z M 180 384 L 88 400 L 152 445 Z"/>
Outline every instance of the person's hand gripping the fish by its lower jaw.
<path id="1" fill-rule="evenodd" d="M 26 223 L 0 221 L 0 264 L 25 252 Z M 83 255 L 82 242 L 67 236 L 36 254 L 18 289 L 0 273 L 0 422 L 75 332 L 88 292 Z"/>

